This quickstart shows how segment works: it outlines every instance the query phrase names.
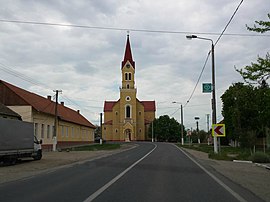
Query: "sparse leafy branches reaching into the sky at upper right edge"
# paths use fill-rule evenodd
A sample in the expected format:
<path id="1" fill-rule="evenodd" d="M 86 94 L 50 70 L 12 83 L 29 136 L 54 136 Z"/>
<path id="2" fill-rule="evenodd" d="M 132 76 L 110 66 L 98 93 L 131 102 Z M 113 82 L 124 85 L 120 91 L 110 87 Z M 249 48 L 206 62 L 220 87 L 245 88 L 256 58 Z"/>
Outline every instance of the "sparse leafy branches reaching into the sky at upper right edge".
<path id="1" fill-rule="evenodd" d="M 270 13 L 268 14 L 270 19 Z M 264 33 L 270 31 L 270 21 L 255 21 L 253 27 L 247 26 L 249 31 Z M 258 56 L 257 63 L 251 63 L 243 69 L 237 70 L 248 83 L 257 82 L 261 86 L 267 86 L 267 80 L 270 78 L 270 55 L 266 54 L 265 58 Z"/>

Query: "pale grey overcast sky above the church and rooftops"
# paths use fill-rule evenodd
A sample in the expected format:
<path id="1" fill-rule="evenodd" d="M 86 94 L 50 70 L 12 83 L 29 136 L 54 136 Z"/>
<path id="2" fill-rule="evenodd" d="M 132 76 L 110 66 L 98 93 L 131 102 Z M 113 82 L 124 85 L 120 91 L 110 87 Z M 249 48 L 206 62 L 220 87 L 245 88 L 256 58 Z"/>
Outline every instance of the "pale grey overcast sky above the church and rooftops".
<path id="1" fill-rule="evenodd" d="M 59 101 L 99 124 L 104 101 L 120 96 L 129 31 L 137 98 L 155 100 L 157 118 L 169 115 L 177 121 L 182 103 L 185 127 L 195 128 L 199 117 L 200 129 L 206 130 L 211 93 L 202 93 L 202 84 L 211 83 L 211 57 L 191 94 L 211 42 L 187 40 L 186 35 L 215 43 L 240 2 L 0 0 L 0 80 L 44 97 L 62 90 Z M 269 10 L 269 0 L 243 1 L 215 45 L 217 121 L 223 118 L 221 95 L 232 83 L 243 82 L 235 68 L 269 52 L 270 34 L 246 29 L 256 20 L 268 20 Z"/>

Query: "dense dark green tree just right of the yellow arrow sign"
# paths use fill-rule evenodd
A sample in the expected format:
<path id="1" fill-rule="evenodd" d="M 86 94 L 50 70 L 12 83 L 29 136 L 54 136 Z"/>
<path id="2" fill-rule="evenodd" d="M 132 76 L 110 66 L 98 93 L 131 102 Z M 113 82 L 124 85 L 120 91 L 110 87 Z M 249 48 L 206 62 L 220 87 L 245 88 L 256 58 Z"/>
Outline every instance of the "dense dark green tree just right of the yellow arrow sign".
<path id="1" fill-rule="evenodd" d="M 254 145 L 253 139 L 246 136 L 248 131 L 257 131 L 260 121 L 255 88 L 235 83 L 225 91 L 221 99 L 227 138 L 240 141 L 244 147 Z"/>

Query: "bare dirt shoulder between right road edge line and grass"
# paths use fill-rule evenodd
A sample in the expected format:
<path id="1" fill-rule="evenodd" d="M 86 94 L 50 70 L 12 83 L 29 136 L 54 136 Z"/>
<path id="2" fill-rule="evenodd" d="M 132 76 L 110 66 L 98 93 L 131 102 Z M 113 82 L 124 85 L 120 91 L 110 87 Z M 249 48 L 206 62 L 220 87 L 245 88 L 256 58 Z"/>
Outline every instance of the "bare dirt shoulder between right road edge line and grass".
<path id="1" fill-rule="evenodd" d="M 182 148 L 199 162 L 206 163 L 233 182 L 250 190 L 265 201 L 270 201 L 270 170 L 260 164 L 233 161 L 218 161 L 208 158 L 208 154 Z M 266 164 L 268 166 L 269 164 Z"/>

